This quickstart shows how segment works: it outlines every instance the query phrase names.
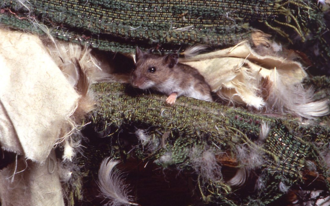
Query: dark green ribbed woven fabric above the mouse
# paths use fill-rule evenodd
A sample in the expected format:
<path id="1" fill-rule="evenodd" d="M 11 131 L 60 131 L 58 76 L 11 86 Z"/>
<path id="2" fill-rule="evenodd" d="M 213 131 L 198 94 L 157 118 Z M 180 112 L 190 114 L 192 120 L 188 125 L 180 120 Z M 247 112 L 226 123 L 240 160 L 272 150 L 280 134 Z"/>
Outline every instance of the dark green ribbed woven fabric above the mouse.
<path id="1" fill-rule="evenodd" d="M 53 28 L 51 34 L 61 40 L 121 52 L 132 51 L 136 44 L 144 47 L 160 44 L 170 50 L 193 44 L 233 45 L 249 39 L 253 27 L 258 25 L 267 26 L 288 41 L 290 34 L 295 33 L 305 41 L 310 33 L 318 38 L 324 32 L 323 15 L 316 3 L 308 0 L 25 3 L 29 10 L 16 1 L 5 0 L 1 22 L 24 29 L 24 25 L 11 18 L 16 13 L 15 17 L 22 21 L 36 18 Z"/>

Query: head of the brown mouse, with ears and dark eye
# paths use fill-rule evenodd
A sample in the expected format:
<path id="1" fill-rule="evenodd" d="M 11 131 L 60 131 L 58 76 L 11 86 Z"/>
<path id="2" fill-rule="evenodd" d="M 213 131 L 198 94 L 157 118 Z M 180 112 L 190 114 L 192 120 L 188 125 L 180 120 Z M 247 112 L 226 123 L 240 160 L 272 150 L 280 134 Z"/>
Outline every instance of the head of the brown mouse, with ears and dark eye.
<path id="1" fill-rule="evenodd" d="M 179 55 L 174 53 L 159 56 L 142 52 L 139 47 L 136 47 L 135 59 L 131 84 L 140 89 L 148 89 L 171 77 L 174 67 L 178 64 Z"/>

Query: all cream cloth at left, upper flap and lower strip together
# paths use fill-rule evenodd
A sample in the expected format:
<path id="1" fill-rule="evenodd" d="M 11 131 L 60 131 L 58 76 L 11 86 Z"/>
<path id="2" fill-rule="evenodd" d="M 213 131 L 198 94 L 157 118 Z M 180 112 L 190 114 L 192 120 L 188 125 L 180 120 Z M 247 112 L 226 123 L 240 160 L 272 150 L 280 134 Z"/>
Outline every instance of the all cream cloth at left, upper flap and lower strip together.
<path id="1" fill-rule="evenodd" d="M 37 36 L 0 29 L 0 48 L 0 145 L 21 155 L 0 171 L 1 203 L 64 205 L 53 147 L 80 95 Z"/>

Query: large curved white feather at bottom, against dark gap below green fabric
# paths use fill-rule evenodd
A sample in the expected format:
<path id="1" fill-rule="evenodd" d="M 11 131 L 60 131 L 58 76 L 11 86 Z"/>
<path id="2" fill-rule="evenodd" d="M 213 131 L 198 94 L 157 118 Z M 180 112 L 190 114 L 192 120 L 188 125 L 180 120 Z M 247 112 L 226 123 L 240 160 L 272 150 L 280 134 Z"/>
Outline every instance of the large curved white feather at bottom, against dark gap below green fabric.
<path id="1" fill-rule="evenodd" d="M 105 158 L 100 166 L 98 185 L 101 195 L 109 201 L 105 205 L 138 205 L 132 203 L 132 197 L 128 195 L 128 185 L 123 183 L 122 174 L 115 170 L 119 161 Z"/>

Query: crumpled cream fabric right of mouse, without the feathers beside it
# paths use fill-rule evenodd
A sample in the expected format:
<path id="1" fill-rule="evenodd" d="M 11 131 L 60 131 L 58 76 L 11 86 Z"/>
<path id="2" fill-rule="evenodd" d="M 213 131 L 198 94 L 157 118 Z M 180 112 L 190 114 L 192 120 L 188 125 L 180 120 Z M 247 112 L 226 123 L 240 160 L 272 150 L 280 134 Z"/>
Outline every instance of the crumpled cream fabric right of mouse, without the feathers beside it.
<path id="1" fill-rule="evenodd" d="M 261 80 L 268 76 L 274 81 L 275 68 L 281 75 L 281 81 L 288 85 L 299 83 L 306 76 L 300 63 L 275 55 L 258 55 L 244 42 L 190 59 L 180 59 L 180 62 L 199 70 L 213 92 L 257 109 L 266 104 L 260 96 Z"/>

